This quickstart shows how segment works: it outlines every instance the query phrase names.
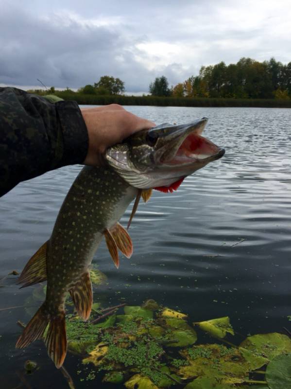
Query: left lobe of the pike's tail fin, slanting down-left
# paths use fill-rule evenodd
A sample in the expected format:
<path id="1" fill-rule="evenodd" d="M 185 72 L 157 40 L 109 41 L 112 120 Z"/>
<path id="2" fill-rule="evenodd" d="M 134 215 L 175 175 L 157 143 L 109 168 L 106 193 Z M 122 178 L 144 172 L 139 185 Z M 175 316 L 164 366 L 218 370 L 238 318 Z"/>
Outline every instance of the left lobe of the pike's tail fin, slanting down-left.
<path id="1" fill-rule="evenodd" d="M 34 340 L 41 339 L 49 323 L 49 315 L 46 312 L 45 302 L 38 309 L 34 317 L 27 324 L 21 336 L 19 336 L 16 348 L 23 349 Z"/>

